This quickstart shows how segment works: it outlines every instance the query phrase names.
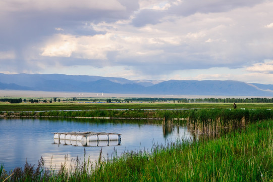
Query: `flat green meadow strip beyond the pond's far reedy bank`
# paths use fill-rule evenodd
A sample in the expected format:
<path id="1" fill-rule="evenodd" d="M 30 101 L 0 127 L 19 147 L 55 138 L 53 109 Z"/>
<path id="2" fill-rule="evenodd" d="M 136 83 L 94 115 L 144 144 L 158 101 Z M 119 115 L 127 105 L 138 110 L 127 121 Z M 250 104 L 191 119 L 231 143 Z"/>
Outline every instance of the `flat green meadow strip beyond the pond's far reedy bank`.
<path id="1" fill-rule="evenodd" d="M 238 109 L 272 109 L 273 103 L 239 103 Z M 52 111 L 52 110 L 89 110 L 89 109 L 192 109 L 192 108 L 233 108 L 232 103 L 52 103 L 52 104 L 3 104 L 0 103 L 0 111 Z"/>

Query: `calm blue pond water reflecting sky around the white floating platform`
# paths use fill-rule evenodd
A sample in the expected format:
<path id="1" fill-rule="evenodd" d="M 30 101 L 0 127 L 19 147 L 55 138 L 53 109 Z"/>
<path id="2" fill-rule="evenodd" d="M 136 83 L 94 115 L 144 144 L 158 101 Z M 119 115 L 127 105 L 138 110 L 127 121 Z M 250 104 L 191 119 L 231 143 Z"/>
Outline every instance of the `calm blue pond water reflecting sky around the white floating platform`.
<path id="1" fill-rule="evenodd" d="M 150 123 L 147 123 L 150 122 Z M 155 121 L 156 122 L 156 121 Z M 77 156 L 86 156 L 96 161 L 101 147 L 80 147 L 73 145 L 55 144 L 51 132 L 95 131 L 117 132 L 122 134 L 120 145 L 102 147 L 102 157 L 113 156 L 127 151 L 150 151 L 153 145 L 167 145 L 177 140 L 189 139 L 191 135 L 184 126 L 162 127 L 160 122 L 140 120 L 94 120 L 94 119 L 35 119 L 35 118 L 0 118 L 0 164 L 6 170 L 28 163 L 37 166 L 41 156 L 45 159 L 45 166 L 49 163 L 60 166 L 65 161 Z M 103 143 L 99 144 L 105 145 Z M 107 144 L 106 144 L 107 145 Z"/>

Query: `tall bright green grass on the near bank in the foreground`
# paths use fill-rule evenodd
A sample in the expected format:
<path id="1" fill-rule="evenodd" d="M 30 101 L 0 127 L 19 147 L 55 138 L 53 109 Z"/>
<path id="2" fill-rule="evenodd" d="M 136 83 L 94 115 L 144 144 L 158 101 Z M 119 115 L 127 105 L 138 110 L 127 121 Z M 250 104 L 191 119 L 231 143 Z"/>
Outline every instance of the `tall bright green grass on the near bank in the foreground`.
<path id="1" fill-rule="evenodd" d="M 218 139 L 154 146 L 97 164 L 76 159 L 74 168 L 58 171 L 44 169 L 41 159 L 37 168 L 0 169 L 0 181 L 272 181 L 272 132 L 272 120 L 258 121 Z"/>

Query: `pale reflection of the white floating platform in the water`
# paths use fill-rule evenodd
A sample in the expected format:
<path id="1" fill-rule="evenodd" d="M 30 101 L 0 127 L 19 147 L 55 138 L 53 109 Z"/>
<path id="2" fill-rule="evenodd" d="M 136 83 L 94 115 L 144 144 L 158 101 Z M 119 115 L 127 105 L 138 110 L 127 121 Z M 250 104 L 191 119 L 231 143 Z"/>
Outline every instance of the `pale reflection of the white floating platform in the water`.
<path id="1" fill-rule="evenodd" d="M 104 146 L 118 146 L 121 145 L 121 140 L 114 141 L 73 141 L 54 139 L 54 144 L 73 145 L 81 147 L 104 147 Z"/>

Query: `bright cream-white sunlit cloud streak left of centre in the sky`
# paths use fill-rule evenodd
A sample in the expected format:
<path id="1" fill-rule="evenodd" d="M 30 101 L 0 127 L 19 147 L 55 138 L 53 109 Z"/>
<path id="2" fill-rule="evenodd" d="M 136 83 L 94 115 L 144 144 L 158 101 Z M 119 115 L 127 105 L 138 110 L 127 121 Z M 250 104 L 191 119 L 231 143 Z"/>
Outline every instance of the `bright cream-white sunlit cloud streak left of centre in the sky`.
<path id="1" fill-rule="evenodd" d="M 119 58 L 126 59 L 132 56 L 157 56 L 164 53 L 161 47 L 180 44 L 179 37 L 149 37 L 143 31 L 141 36 L 119 31 L 93 36 L 56 34 L 45 43 L 41 55 L 106 60 L 107 54 L 115 51 Z"/>

